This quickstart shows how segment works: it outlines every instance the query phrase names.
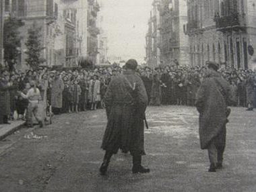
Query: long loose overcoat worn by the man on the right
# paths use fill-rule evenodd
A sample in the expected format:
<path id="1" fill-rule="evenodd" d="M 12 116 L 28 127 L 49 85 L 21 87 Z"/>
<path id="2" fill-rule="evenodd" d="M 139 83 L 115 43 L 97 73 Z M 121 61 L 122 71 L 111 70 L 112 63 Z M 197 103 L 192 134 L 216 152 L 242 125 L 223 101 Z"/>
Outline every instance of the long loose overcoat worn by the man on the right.
<path id="1" fill-rule="evenodd" d="M 216 81 L 222 86 L 226 97 L 222 95 Z M 201 83 L 195 101 L 199 111 L 201 149 L 206 149 L 211 140 L 226 128 L 226 108 L 232 100 L 230 85 L 217 72 L 212 71 Z"/>

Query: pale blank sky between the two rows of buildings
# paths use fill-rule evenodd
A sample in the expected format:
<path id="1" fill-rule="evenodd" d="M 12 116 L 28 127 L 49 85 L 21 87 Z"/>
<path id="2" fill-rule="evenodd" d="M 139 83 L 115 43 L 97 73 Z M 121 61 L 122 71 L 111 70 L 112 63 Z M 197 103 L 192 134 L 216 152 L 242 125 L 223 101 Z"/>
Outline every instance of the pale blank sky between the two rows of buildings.
<path id="1" fill-rule="evenodd" d="M 151 9 L 152 0 L 102 0 L 100 15 L 108 37 L 108 56 L 143 62 Z"/>

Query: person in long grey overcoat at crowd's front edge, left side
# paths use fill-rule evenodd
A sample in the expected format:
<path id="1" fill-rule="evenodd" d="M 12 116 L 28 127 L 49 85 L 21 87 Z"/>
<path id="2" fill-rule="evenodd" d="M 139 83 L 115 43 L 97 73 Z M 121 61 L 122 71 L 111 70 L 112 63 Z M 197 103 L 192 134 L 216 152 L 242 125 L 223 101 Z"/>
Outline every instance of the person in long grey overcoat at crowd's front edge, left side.
<path id="1" fill-rule="evenodd" d="M 64 83 L 59 72 L 55 73 L 51 87 L 51 106 L 53 113 L 59 115 L 62 108 L 62 93 L 64 90 Z"/>

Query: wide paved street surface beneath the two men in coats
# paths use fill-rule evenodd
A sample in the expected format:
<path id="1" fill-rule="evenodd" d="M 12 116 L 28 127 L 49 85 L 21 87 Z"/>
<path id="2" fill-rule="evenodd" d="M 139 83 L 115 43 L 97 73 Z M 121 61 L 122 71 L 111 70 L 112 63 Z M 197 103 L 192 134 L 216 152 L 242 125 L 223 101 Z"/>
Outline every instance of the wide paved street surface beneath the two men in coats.
<path id="1" fill-rule="evenodd" d="M 104 110 L 63 114 L 44 129 L 22 128 L 0 142 L 0 191 L 256 191 L 255 111 L 232 108 L 224 169 L 208 173 L 194 107 L 149 107 L 143 165 L 117 154 L 105 177 L 98 173 L 106 126 Z"/>

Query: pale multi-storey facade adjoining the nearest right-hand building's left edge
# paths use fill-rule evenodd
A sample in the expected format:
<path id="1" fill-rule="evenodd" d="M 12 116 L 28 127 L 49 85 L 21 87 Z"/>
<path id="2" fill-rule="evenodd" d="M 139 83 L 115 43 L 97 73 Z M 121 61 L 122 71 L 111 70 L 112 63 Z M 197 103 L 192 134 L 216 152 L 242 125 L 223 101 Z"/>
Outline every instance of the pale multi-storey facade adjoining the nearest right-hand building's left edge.
<path id="1" fill-rule="evenodd" d="M 162 0 L 160 4 L 161 61 L 164 65 L 189 64 L 188 38 L 183 31 L 187 23 L 187 1 Z"/>

